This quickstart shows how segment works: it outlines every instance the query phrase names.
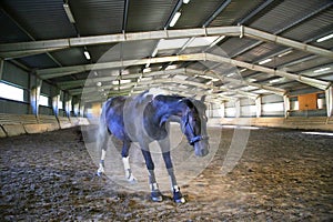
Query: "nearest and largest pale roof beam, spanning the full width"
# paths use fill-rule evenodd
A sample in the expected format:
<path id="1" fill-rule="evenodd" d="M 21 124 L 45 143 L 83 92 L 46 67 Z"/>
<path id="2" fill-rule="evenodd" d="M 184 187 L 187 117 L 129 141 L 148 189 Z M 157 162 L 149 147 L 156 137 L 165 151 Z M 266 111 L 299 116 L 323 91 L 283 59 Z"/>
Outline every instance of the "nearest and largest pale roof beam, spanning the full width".
<path id="1" fill-rule="evenodd" d="M 306 43 L 297 42 L 291 39 L 279 37 L 269 32 L 260 31 L 244 26 L 233 27 L 212 27 L 196 29 L 180 29 L 180 30 L 160 30 L 133 33 L 104 34 L 93 37 L 79 37 L 56 40 L 42 40 L 33 42 L 2 43 L 0 44 L 0 57 L 4 59 L 24 57 L 29 52 L 43 53 L 58 49 L 67 49 L 71 47 L 83 47 L 92 44 L 108 44 L 127 41 L 141 40 L 159 40 L 174 38 L 191 38 L 191 37 L 208 37 L 208 36 L 229 36 L 229 37 L 249 37 L 262 41 L 274 42 L 278 44 L 291 47 L 310 53 L 315 53 L 322 57 L 333 58 L 333 52 L 319 47 L 313 47 Z"/>

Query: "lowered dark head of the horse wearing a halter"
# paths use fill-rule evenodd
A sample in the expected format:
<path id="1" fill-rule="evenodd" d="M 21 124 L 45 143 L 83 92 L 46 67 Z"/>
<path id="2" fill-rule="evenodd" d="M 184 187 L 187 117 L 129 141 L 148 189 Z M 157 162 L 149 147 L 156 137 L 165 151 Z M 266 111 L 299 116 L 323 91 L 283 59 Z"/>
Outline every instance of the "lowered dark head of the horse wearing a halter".
<path id="1" fill-rule="evenodd" d="M 209 153 L 209 137 L 206 133 L 205 104 L 202 101 L 184 98 L 180 101 L 185 104 L 181 118 L 182 132 L 194 147 L 194 153 L 198 157 L 204 157 Z"/>

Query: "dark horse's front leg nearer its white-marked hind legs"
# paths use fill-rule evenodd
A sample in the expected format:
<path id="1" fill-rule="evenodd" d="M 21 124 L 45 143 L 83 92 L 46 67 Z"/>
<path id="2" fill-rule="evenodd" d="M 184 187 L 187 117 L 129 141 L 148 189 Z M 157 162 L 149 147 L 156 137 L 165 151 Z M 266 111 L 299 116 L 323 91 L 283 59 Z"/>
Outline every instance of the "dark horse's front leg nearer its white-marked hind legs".
<path id="1" fill-rule="evenodd" d="M 155 179 L 155 173 L 154 173 L 154 163 L 152 161 L 150 151 L 148 145 L 142 147 L 141 145 L 141 151 L 145 161 L 145 165 L 149 172 L 149 185 L 151 189 L 151 200 L 154 202 L 161 202 L 163 200 L 162 193 L 160 192 L 157 179 Z"/>

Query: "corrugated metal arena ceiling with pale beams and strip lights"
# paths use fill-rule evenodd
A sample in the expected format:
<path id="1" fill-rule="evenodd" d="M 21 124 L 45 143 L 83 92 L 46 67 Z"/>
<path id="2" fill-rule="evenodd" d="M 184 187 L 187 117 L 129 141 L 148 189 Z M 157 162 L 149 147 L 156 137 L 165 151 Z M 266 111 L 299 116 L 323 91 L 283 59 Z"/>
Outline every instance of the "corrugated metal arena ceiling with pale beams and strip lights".
<path id="1" fill-rule="evenodd" d="M 333 38 L 320 40 L 333 33 L 332 0 L 2 0 L 0 7 L 0 58 L 89 101 L 159 88 L 222 102 L 323 91 L 333 81 Z"/>

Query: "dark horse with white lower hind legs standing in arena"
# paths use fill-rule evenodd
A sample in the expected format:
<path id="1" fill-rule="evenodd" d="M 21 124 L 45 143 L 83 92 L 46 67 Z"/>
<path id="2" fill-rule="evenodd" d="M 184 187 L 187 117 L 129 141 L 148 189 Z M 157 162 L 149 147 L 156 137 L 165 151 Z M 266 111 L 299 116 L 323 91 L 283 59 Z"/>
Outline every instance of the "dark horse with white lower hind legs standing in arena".
<path id="1" fill-rule="evenodd" d="M 101 149 L 101 160 L 97 174 L 104 173 L 104 158 L 108 148 L 108 137 L 113 134 L 122 141 L 122 162 L 125 178 L 129 182 L 137 181 L 133 175 L 129 150 L 132 142 L 139 142 L 149 173 L 150 198 L 154 202 L 163 200 L 154 174 L 154 163 L 151 158 L 149 144 L 158 141 L 165 168 L 171 181 L 173 201 L 184 203 L 180 188 L 174 175 L 173 164 L 170 157 L 170 138 L 168 131 L 170 122 L 179 122 L 182 133 L 186 137 L 190 145 L 194 148 L 198 157 L 209 153 L 209 137 L 204 98 L 194 100 L 180 95 L 152 95 L 143 92 L 138 95 L 119 95 L 108 99 L 102 105 L 98 131 L 98 148 Z"/>

